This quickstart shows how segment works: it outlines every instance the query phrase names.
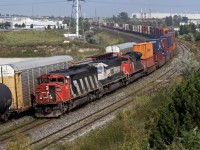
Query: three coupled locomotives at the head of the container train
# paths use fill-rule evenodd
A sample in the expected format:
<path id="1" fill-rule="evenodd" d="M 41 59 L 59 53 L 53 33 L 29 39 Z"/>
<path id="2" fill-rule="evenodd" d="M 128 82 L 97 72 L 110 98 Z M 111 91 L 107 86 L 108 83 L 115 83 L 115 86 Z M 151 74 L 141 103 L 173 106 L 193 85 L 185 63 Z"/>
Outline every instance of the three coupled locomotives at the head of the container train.
<path id="1" fill-rule="evenodd" d="M 139 52 L 53 71 L 38 78 L 35 115 L 58 117 L 141 77 Z"/>

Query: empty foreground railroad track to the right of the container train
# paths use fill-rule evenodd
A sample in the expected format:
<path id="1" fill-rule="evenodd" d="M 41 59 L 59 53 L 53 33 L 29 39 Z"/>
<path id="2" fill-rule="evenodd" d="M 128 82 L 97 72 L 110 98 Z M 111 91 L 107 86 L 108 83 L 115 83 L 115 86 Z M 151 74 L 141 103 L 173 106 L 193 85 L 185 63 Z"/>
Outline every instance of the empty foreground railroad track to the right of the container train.
<path id="1" fill-rule="evenodd" d="M 181 51 L 182 51 L 182 54 L 184 54 L 183 51 L 185 51 L 185 48 L 181 47 Z M 181 66 L 180 66 L 180 68 L 181 68 Z M 123 108 L 124 106 L 127 106 L 128 104 L 133 102 L 133 98 L 132 98 L 133 96 L 137 96 L 137 95 L 141 94 L 141 92 L 144 92 L 144 91 L 151 92 L 152 89 L 158 87 L 159 85 L 162 85 L 163 82 L 171 79 L 171 77 L 174 76 L 174 74 L 176 74 L 180 68 L 178 68 L 178 69 L 173 68 L 173 69 L 168 70 L 167 72 L 165 72 L 165 73 L 161 74 L 159 77 L 157 77 L 159 79 L 162 78 L 162 80 L 160 82 L 155 82 L 155 80 L 152 80 L 151 82 L 149 82 L 145 86 L 140 87 L 139 89 L 135 90 L 134 92 L 132 92 L 133 89 L 131 89 L 130 90 L 131 92 L 129 91 L 130 93 L 126 94 L 126 96 L 124 96 L 124 97 L 121 97 L 118 101 L 96 111 L 95 113 L 93 113 L 91 115 L 88 115 L 80 120 L 77 120 L 73 124 L 67 125 L 61 129 L 49 134 L 46 137 L 38 139 L 38 140 L 30 143 L 28 146 L 32 146 L 35 149 L 45 149 L 45 148 L 48 148 L 52 144 L 55 144 L 59 141 L 62 141 L 63 139 L 69 138 L 69 137 L 77 134 L 81 130 L 90 127 L 95 122 L 107 117 L 108 115 L 116 112 L 117 110 L 119 110 L 119 109 Z M 154 88 L 152 88 L 152 86 Z"/>

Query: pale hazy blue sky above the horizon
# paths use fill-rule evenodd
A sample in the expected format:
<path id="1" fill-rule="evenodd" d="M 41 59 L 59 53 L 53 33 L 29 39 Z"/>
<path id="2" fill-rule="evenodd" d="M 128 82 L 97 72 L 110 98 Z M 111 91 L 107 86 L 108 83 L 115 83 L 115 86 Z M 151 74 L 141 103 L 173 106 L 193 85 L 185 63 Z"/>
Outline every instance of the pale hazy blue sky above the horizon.
<path id="1" fill-rule="evenodd" d="M 86 0 L 81 2 L 85 17 L 110 17 L 120 12 L 200 13 L 200 0 Z M 1 14 L 70 16 L 72 2 L 67 0 L 0 0 Z"/>

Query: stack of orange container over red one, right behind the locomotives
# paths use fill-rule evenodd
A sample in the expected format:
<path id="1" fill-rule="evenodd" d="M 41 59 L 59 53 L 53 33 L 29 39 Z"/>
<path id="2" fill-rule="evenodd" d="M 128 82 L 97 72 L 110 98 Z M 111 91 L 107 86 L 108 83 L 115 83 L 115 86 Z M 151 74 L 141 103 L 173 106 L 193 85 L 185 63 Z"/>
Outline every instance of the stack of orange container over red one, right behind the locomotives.
<path id="1" fill-rule="evenodd" d="M 156 70 L 152 43 L 135 44 L 133 45 L 133 51 L 142 53 L 141 62 L 144 65 L 146 74 L 149 74 Z"/>

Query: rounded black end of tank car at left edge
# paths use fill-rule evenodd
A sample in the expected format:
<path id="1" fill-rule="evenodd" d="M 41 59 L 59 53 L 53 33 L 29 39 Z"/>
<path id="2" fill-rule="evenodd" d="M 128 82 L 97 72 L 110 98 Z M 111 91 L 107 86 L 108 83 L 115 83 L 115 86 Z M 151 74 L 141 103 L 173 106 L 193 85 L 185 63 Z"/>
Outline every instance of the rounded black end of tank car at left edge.
<path id="1" fill-rule="evenodd" d="M 12 104 L 12 94 L 10 89 L 0 83 L 0 114 L 3 114 Z"/>

